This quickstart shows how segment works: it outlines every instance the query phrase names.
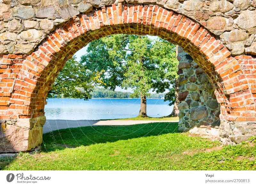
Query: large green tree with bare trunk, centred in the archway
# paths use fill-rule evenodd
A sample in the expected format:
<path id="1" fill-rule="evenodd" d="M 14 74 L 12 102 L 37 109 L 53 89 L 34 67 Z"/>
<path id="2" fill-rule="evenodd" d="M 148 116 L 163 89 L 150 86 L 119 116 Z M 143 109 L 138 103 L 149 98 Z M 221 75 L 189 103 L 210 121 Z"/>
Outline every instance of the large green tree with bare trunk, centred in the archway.
<path id="1" fill-rule="evenodd" d="M 177 60 L 173 58 L 175 46 L 161 39 L 153 41 L 147 36 L 111 35 L 92 41 L 87 52 L 81 63 L 92 72 L 104 72 L 101 78 L 105 88 L 131 87 L 130 97 L 141 99 L 139 116 L 143 117 L 147 116 L 150 89 L 154 88 L 158 93 L 166 88 L 171 90 L 170 82 L 175 77 L 168 71 L 174 70 L 177 74 Z M 173 61 L 175 64 L 171 64 Z"/>

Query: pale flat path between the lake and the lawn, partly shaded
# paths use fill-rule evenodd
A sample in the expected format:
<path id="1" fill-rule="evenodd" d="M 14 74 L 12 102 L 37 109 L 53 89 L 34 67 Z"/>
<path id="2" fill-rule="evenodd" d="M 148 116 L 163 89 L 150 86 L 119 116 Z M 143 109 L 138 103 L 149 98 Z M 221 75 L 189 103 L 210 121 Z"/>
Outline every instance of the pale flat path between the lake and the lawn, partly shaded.
<path id="1" fill-rule="evenodd" d="M 52 130 L 76 128 L 76 127 L 88 127 L 99 125 L 134 125 L 142 123 L 162 123 L 162 122 L 179 122 L 179 121 L 157 121 L 157 120 L 46 120 L 43 128 L 43 133 L 50 132 Z"/>

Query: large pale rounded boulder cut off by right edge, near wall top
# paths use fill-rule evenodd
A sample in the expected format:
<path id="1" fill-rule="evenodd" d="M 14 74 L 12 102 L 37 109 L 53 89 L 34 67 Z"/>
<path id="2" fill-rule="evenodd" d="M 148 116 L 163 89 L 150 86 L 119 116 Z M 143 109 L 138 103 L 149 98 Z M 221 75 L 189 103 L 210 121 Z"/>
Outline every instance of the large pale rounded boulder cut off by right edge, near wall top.
<path id="1" fill-rule="evenodd" d="M 256 26 L 256 12 L 255 11 L 242 11 L 242 13 L 235 19 L 235 23 L 239 28 L 249 29 Z"/>

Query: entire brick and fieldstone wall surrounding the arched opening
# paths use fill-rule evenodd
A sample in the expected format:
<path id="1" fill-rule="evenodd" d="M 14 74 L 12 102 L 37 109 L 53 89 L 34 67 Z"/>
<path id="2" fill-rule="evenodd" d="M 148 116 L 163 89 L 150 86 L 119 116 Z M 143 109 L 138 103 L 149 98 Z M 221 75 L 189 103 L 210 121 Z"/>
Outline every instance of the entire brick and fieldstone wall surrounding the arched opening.
<path id="1" fill-rule="evenodd" d="M 30 150 L 40 145 L 47 93 L 65 62 L 89 42 L 117 33 L 156 35 L 181 46 L 210 77 L 208 81 L 214 86 L 214 94 L 220 103 L 222 141 L 237 143 L 255 133 L 256 59 L 245 53 L 232 56 L 238 55 L 234 53 L 234 46 L 244 52 L 244 46 L 249 47 L 254 42 L 254 1 L 248 1 L 248 10 L 244 7 L 239 10 L 237 7 L 244 3 L 239 5 L 236 0 L 116 2 L 103 6 L 113 1 L 0 0 L 0 48 L 3 51 L 0 54 L 0 119 L 3 120 L 0 141 L 7 143 L 9 140 L 8 152 Z M 81 6 L 88 9 L 79 10 Z M 230 15 L 227 14 L 229 11 L 232 11 Z M 243 16 L 248 19 L 242 19 Z M 253 55 L 252 52 L 246 54 Z M 188 65 L 182 65 L 185 64 Z M 210 93 L 210 84 L 206 82 L 204 86 L 209 90 L 202 90 L 202 95 L 199 91 L 201 102 L 194 100 L 198 95 L 192 90 L 194 87 L 200 89 L 196 84 L 200 80 L 195 81 L 192 74 L 195 78 L 205 76 L 196 74 L 199 68 L 194 62 L 190 66 L 192 68 L 183 69 L 185 74 L 191 73 L 191 79 L 186 82 L 190 86 L 184 86 L 191 92 L 180 95 L 186 97 L 183 103 L 186 102 L 190 110 L 186 111 L 188 117 L 181 117 L 180 129 L 188 130 L 190 126 L 186 121 L 191 120 L 191 126 L 199 126 L 194 130 L 203 129 L 209 133 L 210 129 L 218 128 L 218 123 L 213 123 L 218 115 L 210 109 L 216 102 Z M 205 94 L 213 103 L 212 100 L 208 105 L 208 100 L 202 103 Z M 198 122 L 192 120 L 197 119 L 194 118 L 196 113 L 203 116 Z M 7 124 L 6 121 L 12 122 L 12 119 L 17 122 L 13 120 L 13 124 Z M 203 124 L 207 127 L 201 128 Z"/>

